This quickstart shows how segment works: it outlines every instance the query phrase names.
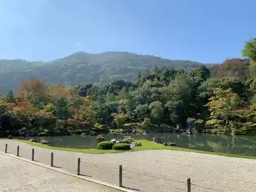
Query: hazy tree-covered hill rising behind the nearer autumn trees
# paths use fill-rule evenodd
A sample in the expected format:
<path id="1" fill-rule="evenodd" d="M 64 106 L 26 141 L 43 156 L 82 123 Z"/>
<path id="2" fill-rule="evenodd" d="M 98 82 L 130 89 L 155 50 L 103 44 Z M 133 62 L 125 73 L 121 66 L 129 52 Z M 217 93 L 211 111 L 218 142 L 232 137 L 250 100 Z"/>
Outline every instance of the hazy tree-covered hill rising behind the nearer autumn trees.
<path id="1" fill-rule="evenodd" d="M 32 77 L 46 83 L 76 86 L 79 83 L 107 83 L 117 78 L 134 80 L 138 72 L 144 73 L 156 66 L 189 71 L 199 65 L 202 63 L 128 52 L 77 52 L 50 62 L 3 59 L 0 60 L 0 93 L 15 91 L 21 80 Z"/>

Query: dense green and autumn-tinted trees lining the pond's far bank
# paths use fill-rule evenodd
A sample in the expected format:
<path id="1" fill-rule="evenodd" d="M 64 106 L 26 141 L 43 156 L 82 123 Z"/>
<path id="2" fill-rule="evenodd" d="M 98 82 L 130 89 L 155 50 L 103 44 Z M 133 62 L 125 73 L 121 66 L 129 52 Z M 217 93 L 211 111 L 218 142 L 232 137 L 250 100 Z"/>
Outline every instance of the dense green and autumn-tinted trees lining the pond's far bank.
<path id="1" fill-rule="evenodd" d="M 0 134 L 173 132 L 186 129 L 187 122 L 198 132 L 255 134 L 256 39 L 245 45 L 243 56 L 211 68 L 196 64 L 191 70 L 162 63 L 138 72 L 133 81 L 116 78 L 65 87 L 38 78 L 23 80 L 16 94 L 8 91 L 0 98 Z"/>

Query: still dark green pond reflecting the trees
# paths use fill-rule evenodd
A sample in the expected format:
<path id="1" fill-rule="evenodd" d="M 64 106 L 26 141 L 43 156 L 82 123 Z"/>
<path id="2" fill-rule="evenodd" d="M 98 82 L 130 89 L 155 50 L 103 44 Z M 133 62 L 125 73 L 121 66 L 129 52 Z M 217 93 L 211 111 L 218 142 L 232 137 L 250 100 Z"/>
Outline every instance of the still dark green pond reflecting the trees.
<path id="1" fill-rule="evenodd" d="M 132 136 L 136 139 L 152 140 L 158 136 L 162 142 L 173 142 L 178 147 L 190 148 L 206 152 L 219 152 L 228 154 L 240 154 L 256 157 L 256 136 L 231 136 L 231 135 L 178 135 L 169 133 L 148 133 L 147 135 L 114 135 L 101 134 L 106 141 L 113 138 L 123 139 Z M 36 139 L 36 138 L 35 138 Z M 60 137 L 41 137 L 50 141 L 50 146 L 68 148 L 95 148 L 97 145 L 96 136 L 60 136 Z"/>

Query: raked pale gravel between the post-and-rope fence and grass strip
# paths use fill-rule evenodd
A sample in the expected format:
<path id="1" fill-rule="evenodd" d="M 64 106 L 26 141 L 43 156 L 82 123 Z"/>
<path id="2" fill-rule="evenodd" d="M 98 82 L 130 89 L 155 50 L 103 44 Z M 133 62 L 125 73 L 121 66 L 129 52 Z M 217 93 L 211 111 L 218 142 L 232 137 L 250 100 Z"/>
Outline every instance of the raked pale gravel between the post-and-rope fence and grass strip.
<path id="1" fill-rule="evenodd" d="M 168 150 L 82 154 L 11 140 L 0 141 L 0 151 L 4 151 L 5 143 L 8 143 L 8 153 L 16 154 L 19 145 L 20 156 L 29 159 L 32 148 L 35 148 L 35 160 L 46 164 L 50 163 L 50 153 L 54 152 L 54 165 L 72 173 L 76 172 L 77 158 L 80 157 L 82 175 L 116 185 L 118 166 L 122 164 L 124 187 L 136 191 L 185 192 L 187 178 L 195 184 L 191 186 L 192 192 L 254 192 L 256 188 L 256 160 L 251 159 Z"/>

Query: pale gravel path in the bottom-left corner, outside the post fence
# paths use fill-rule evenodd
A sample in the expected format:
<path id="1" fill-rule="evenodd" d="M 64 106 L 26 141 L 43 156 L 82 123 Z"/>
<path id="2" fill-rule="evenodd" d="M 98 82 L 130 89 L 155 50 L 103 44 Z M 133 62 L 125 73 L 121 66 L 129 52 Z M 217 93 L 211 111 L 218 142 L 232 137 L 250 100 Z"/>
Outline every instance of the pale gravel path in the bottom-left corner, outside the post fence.
<path id="1" fill-rule="evenodd" d="M 0 172 L 1 192 L 118 191 L 3 154 L 0 154 Z"/>

